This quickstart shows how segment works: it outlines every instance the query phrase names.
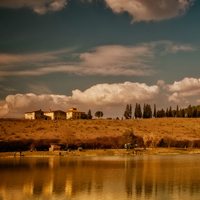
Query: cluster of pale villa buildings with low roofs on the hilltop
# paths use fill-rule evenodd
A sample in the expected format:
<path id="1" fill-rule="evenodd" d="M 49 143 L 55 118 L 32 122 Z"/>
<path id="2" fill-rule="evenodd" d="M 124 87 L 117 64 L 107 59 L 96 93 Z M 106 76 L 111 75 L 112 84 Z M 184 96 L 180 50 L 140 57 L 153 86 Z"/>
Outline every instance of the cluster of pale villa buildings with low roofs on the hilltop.
<path id="1" fill-rule="evenodd" d="M 69 111 L 62 110 L 51 110 L 42 111 L 33 110 L 25 112 L 25 119 L 45 119 L 45 120 L 65 120 L 65 119 L 81 119 L 82 114 L 85 112 L 77 111 L 76 108 L 72 107 Z"/>

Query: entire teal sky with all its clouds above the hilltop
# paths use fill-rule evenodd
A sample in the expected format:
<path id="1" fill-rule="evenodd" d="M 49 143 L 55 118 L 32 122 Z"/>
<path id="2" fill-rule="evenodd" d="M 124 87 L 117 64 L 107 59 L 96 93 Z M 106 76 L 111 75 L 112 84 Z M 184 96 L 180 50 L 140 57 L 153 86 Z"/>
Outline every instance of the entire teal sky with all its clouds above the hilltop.
<path id="1" fill-rule="evenodd" d="M 200 1 L 1 0 L 0 117 L 200 104 Z"/>

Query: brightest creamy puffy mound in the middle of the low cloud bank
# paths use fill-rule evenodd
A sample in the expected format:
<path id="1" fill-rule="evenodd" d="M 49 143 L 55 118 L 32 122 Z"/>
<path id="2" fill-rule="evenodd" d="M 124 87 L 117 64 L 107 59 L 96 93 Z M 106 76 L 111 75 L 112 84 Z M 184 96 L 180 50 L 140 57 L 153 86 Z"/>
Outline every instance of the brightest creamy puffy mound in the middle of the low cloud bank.
<path id="1" fill-rule="evenodd" d="M 145 83 L 98 84 L 84 92 L 74 90 L 73 100 L 97 105 L 126 104 L 128 102 L 149 101 L 159 94 L 159 87 Z"/>

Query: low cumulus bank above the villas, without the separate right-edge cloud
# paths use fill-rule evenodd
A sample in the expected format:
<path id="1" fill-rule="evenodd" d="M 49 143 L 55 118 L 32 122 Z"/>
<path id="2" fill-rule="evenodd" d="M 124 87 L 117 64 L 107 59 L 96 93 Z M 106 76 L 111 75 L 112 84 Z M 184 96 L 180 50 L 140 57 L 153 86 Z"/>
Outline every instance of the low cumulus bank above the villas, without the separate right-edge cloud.
<path id="1" fill-rule="evenodd" d="M 111 113 L 123 115 L 124 105 L 135 103 L 153 103 L 159 99 L 160 90 L 157 85 L 145 83 L 98 84 L 85 91 L 74 90 L 72 96 L 33 93 L 8 95 L 0 106 L 0 115 L 5 117 L 23 117 L 30 110 L 61 109 L 68 110 L 76 106 L 85 112 L 88 109 L 104 109 L 105 115 Z"/>

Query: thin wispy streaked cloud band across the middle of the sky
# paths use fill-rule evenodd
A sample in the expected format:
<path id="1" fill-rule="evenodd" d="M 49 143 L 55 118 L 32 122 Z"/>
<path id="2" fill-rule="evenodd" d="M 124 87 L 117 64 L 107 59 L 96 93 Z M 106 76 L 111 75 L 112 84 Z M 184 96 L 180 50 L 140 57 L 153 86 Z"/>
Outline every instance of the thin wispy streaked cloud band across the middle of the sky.
<path id="1" fill-rule="evenodd" d="M 79 54 L 72 54 L 73 50 L 41 54 L 0 54 L 0 76 L 39 76 L 57 72 L 76 75 L 151 76 L 157 72 L 154 68 L 157 56 L 195 49 L 188 44 L 157 41 L 135 46 L 98 46 Z M 75 60 L 69 62 L 69 58 Z M 22 66 L 25 66 L 25 70 L 20 69 Z M 7 67 L 14 70 L 4 70 Z"/>

